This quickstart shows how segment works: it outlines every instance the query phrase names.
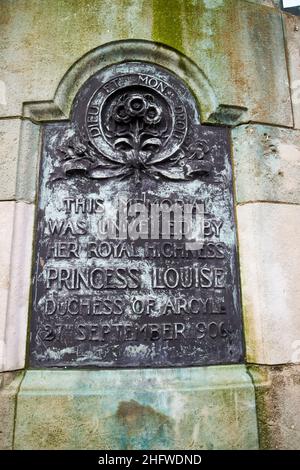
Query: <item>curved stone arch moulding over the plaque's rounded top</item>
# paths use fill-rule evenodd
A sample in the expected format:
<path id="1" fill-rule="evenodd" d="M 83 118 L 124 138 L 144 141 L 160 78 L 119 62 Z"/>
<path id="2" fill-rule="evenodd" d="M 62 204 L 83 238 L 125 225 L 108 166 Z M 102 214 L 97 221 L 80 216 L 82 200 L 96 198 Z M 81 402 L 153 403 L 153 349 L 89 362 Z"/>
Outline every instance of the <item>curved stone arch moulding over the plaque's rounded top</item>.
<path id="1" fill-rule="evenodd" d="M 175 49 L 144 40 L 115 41 L 91 50 L 65 73 L 53 100 L 24 103 L 23 117 L 35 122 L 68 119 L 72 102 L 89 77 L 99 69 L 130 61 L 154 63 L 175 73 L 194 94 L 201 121 L 217 122 L 214 116 L 219 109 L 218 99 L 203 71 Z"/>

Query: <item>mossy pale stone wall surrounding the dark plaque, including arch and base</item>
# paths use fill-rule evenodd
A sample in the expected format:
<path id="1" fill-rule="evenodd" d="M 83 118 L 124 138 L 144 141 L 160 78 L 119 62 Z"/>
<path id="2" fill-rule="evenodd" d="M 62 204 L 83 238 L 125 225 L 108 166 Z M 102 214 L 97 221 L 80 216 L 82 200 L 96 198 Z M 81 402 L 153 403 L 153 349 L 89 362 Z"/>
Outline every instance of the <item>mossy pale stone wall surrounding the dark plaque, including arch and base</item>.
<path id="1" fill-rule="evenodd" d="M 299 18 L 271 0 L 6 0 L 0 23 L 0 447 L 299 448 Z M 40 126 L 125 60 L 166 66 L 203 123 L 232 128 L 245 365 L 24 373 Z"/>

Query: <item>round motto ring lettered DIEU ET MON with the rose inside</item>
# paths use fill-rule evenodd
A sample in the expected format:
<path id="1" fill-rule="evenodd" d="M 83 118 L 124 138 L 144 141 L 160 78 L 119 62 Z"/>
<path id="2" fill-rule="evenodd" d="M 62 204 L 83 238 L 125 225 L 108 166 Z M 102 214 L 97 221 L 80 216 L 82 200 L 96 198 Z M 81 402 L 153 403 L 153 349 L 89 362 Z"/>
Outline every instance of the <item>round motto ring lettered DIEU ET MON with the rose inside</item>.
<path id="1" fill-rule="evenodd" d="M 104 82 L 85 116 L 89 139 L 114 161 L 143 166 L 164 161 L 185 139 L 187 113 L 176 89 L 149 74 L 123 74 Z"/>

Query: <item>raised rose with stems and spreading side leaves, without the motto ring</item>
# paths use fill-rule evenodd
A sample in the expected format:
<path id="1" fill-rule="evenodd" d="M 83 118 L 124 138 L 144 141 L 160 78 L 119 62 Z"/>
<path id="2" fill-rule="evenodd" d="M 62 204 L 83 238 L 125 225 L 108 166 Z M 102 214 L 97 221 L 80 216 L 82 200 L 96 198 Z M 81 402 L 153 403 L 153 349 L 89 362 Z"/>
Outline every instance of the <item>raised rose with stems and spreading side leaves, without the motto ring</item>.
<path id="1" fill-rule="evenodd" d="M 99 152 L 86 138 L 73 137 L 59 147 L 63 174 L 84 173 L 90 178 L 127 178 L 143 175 L 169 180 L 208 176 L 209 147 L 196 140 L 181 146 L 173 155 L 162 149 L 170 133 L 166 107 L 145 92 L 124 93 L 112 101 L 103 117 L 103 134 L 113 156 Z"/>

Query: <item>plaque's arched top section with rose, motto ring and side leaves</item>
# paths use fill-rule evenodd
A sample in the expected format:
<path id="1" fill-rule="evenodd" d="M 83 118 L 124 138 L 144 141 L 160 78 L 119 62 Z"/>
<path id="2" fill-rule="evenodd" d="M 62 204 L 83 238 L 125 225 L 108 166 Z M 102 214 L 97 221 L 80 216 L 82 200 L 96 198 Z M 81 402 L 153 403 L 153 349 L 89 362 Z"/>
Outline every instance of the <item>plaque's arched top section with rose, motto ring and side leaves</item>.
<path id="1" fill-rule="evenodd" d="M 209 146 L 195 138 L 196 103 L 171 72 L 127 62 L 93 75 L 76 95 L 73 132 L 58 151 L 66 176 L 187 181 L 210 174 Z M 71 135 L 70 135 L 71 134 Z"/>

